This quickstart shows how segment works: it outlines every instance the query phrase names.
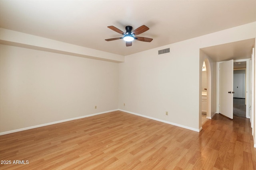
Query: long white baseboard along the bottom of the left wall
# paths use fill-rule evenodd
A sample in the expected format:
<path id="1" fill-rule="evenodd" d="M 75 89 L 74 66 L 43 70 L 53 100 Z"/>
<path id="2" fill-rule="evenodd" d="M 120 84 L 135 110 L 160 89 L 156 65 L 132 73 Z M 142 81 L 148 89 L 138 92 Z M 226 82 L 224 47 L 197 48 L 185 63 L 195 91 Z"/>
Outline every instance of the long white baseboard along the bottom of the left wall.
<path id="1" fill-rule="evenodd" d="M 71 121 L 71 120 L 76 120 L 76 119 L 82 119 L 82 118 L 84 118 L 84 117 L 90 117 L 90 116 L 100 115 L 100 114 L 104 114 L 104 113 L 108 113 L 108 112 L 112 112 L 112 111 L 118 111 L 118 109 L 109 110 L 109 111 L 103 111 L 103 112 L 100 112 L 100 113 L 94 113 L 94 114 L 90 114 L 90 115 L 84 115 L 84 116 L 74 117 L 74 118 L 65 119 L 65 120 L 60 120 L 60 121 L 54 121 L 54 122 L 50 122 L 50 123 L 44 123 L 44 124 L 41 124 L 41 125 L 35 125 L 35 126 L 30 126 L 30 127 L 24 127 L 24 128 L 15 129 L 15 130 L 12 130 L 12 131 L 1 132 L 1 133 L 0 133 L 0 136 L 1 136 L 1 135 L 6 135 L 6 134 L 9 134 L 9 133 L 19 132 L 19 131 L 25 131 L 25 130 L 28 130 L 28 129 L 34 129 L 34 128 L 37 128 L 37 127 L 43 127 L 43 126 L 53 125 L 53 124 L 56 124 L 56 123 L 62 123 L 62 122 L 65 122 L 65 121 Z"/>

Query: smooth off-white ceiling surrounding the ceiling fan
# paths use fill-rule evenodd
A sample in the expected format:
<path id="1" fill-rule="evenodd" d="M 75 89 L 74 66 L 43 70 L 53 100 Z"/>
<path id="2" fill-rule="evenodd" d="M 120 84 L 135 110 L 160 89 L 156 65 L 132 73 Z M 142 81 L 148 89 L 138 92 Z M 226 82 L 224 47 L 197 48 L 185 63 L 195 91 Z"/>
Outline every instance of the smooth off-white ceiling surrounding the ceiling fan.
<path id="1" fill-rule="evenodd" d="M 256 0 L 0 0 L 2 28 L 119 55 L 138 53 L 254 21 Z M 127 25 L 134 29 L 146 25 L 150 29 L 139 36 L 153 38 L 153 41 L 133 41 L 132 47 L 126 47 L 122 39 L 105 41 L 122 37 L 107 28 L 109 25 L 122 31 Z M 255 40 L 246 41 L 246 48 L 254 43 Z M 229 45 L 234 55 L 243 55 L 234 45 L 244 51 L 244 43 Z M 219 54 L 226 53 L 227 46 L 212 48 L 214 50 L 204 50 L 218 61 Z M 216 51 L 219 51 L 217 56 Z"/>

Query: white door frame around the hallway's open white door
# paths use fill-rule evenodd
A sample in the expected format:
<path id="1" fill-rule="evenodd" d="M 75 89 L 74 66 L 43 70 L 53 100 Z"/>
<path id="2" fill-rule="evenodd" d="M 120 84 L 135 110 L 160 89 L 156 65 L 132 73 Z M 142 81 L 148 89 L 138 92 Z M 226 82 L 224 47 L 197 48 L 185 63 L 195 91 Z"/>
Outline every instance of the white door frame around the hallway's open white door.
<path id="1" fill-rule="evenodd" d="M 238 59 L 238 60 L 234 60 L 234 63 L 236 63 L 236 62 L 244 62 L 244 61 L 246 61 L 246 118 L 248 118 L 248 119 L 250 119 L 250 115 L 249 115 L 249 105 L 250 105 L 250 103 L 249 103 L 249 95 L 250 95 L 250 93 L 249 93 L 249 79 L 250 79 L 250 59 Z M 220 70 L 218 69 L 219 67 L 220 67 L 220 63 L 222 63 L 222 62 L 224 62 L 224 61 L 219 61 L 219 62 L 217 62 L 217 81 L 216 81 L 216 87 L 217 87 L 217 89 L 216 89 L 216 92 L 217 92 L 217 96 L 216 96 L 216 113 L 220 113 L 219 112 L 219 104 L 220 104 L 220 100 L 219 100 L 219 98 L 220 98 L 220 96 L 219 96 L 219 93 L 220 93 L 220 80 L 219 80 L 219 78 L 220 78 Z"/>

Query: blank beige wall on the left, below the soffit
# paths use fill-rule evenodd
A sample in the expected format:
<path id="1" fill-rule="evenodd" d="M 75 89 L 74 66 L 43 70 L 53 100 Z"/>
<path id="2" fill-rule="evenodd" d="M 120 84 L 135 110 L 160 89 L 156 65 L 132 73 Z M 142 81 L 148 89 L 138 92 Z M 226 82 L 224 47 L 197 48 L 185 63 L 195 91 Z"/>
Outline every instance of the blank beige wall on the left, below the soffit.
<path id="1" fill-rule="evenodd" d="M 0 132 L 113 109 L 118 63 L 0 45 Z"/>

